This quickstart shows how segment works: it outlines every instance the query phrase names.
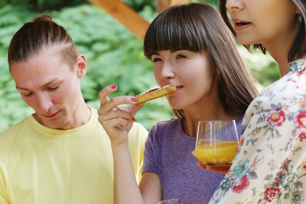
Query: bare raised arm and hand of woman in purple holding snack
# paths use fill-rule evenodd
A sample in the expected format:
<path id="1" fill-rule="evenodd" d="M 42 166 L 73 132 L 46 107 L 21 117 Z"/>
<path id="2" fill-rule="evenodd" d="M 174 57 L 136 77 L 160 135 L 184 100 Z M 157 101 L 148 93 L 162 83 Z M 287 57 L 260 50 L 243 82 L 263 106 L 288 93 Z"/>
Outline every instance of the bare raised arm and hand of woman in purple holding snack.
<path id="1" fill-rule="evenodd" d="M 114 160 L 114 203 L 152 204 L 161 200 L 159 177 L 153 173 L 144 173 L 140 181 L 140 191 L 128 145 L 128 133 L 132 127 L 133 116 L 144 104 L 120 107 L 121 104 L 134 104 L 135 101 L 131 96 L 109 99 L 108 95 L 115 90 L 109 86 L 100 91 L 101 106 L 98 110 L 99 122 L 111 141 Z"/>

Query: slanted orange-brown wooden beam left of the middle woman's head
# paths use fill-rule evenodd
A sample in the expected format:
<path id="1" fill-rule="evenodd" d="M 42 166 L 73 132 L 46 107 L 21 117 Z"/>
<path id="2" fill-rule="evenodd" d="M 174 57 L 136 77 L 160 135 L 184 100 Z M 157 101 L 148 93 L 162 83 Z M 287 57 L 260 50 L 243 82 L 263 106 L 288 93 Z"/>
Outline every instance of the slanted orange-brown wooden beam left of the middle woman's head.
<path id="1" fill-rule="evenodd" d="M 149 23 L 137 14 L 129 5 L 120 0 L 88 0 L 104 9 L 114 19 L 126 26 L 141 40 L 144 39 Z"/>

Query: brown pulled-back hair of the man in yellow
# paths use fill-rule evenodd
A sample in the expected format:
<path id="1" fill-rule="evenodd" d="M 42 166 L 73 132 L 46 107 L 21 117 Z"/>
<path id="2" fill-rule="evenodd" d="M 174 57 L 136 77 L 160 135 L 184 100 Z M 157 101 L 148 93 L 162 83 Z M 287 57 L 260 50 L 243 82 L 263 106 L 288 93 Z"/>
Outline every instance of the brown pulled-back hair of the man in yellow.
<path id="1" fill-rule="evenodd" d="M 13 36 L 8 48 L 8 64 L 18 63 L 38 54 L 44 48 L 56 45 L 64 62 L 73 65 L 78 50 L 64 27 L 42 15 L 25 23 Z"/>

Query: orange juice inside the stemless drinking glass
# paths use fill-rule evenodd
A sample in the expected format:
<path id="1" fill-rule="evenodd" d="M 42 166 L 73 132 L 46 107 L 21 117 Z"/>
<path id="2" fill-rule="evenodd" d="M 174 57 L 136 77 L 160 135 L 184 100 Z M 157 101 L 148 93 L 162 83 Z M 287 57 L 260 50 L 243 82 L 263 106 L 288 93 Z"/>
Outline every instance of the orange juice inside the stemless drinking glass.
<path id="1" fill-rule="evenodd" d="M 201 144 L 196 147 L 195 156 L 207 166 L 228 166 L 232 164 L 237 147 L 237 141 Z"/>

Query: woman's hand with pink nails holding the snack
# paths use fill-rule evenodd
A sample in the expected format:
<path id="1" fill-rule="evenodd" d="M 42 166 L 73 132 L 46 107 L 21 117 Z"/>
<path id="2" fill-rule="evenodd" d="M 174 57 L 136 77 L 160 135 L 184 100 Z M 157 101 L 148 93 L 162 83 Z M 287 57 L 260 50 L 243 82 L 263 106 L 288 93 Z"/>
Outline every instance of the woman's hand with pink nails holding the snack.
<path id="1" fill-rule="evenodd" d="M 142 103 L 129 107 L 119 106 L 121 104 L 133 104 L 137 99 L 132 96 L 118 96 L 109 99 L 108 95 L 116 90 L 116 85 L 110 85 L 99 92 L 101 105 L 98 110 L 98 120 L 108 134 L 112 145 L 128 142 L 128 133 L 135 120 L 133 116 L 144 105 Z"/>

